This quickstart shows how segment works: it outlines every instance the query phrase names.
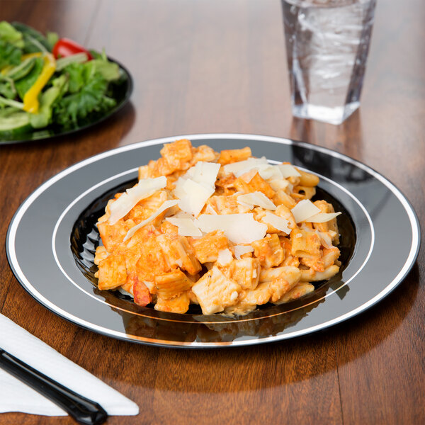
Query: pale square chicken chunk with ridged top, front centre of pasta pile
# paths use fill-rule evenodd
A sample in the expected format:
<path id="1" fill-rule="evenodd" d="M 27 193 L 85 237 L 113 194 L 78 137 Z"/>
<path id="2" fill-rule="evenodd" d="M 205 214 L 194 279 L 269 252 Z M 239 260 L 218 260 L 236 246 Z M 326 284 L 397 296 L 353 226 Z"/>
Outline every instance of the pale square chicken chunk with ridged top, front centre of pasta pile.
<path id="1" fill-rule="evenodd" d="M 222 312 L 226 307 L 236 304 L 241 291 L 241 286 L 227 278 L 216 266 L 192 287 L 203 314 Z"/>

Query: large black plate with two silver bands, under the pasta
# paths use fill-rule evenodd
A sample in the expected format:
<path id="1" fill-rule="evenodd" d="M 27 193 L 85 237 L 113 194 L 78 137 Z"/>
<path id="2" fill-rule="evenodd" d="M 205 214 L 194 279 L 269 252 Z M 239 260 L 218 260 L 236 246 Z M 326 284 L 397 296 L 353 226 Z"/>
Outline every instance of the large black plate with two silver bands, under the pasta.
<path id="1" fill-rule="evenodd" d="M 244 317 L 157 312 L 96 288 L 95 226 L 110 196 L 137 179 L 137 167 L 159 158 L 162 144 L 188 138 L 216 151 L 251 147 L 255 157 L 288 161 L 320 178 L 317 198 L 336 210 L 341 271 L 314 292 Z M 397 241 L 397 244 L 394 243 Z M 46 181 L 21 205 L 8 228 L 8 261 L 35 300 L 64 319 L 126 341 L 182 348 L 248 346 L 325 329 L 375 305 L 412 268 L 419 223 L 409 201 L 368 166 L 329 149 L 277 137 L 207 134 L 140 142 L 91 157 Z M 391 249 L 387 249 L 391 246 Z"/>

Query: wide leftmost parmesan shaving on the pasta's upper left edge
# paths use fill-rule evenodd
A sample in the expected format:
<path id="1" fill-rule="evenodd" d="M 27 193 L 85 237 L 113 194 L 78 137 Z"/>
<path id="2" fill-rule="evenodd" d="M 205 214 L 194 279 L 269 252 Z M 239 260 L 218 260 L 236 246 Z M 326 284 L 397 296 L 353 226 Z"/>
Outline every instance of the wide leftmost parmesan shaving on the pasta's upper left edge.
<path id="1" fill-rule="evenodd" d="M 123 218 L 142 199 L 149 198 L 156 191 L 166 186 L 166 177 L 157 179 L 142 179 L 136 186 L 127 189 L 123 195 L 115 202 L 111 203 L 111 216 L 108 221 L 110 225 L 115 225 L 120 218 Z"/>

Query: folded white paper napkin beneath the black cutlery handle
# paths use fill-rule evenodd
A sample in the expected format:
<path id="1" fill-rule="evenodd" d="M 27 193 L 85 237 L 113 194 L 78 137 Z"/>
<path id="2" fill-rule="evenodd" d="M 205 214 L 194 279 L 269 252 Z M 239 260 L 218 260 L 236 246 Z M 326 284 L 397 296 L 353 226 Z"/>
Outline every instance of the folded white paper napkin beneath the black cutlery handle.
<path id="1" fill-rule="evenodd" d="M 108 415 L 136 415 L 139 407 L 87 370 L 0 314 L 0 347 L 65 387 L 101 404 Z M 0 412 L 66 416 L 56 404 L 0 369 Z"/>

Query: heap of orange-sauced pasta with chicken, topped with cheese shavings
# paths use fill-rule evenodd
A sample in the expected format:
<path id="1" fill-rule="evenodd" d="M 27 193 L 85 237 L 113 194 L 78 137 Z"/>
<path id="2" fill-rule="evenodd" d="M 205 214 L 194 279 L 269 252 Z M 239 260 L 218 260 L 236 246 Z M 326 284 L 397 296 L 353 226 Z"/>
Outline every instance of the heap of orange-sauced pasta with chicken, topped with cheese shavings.
<path id="1" fill-rule="evenodd" d="M 339 272 L 339 212 L 311 202 L 314 174 L 249 147 L 218 153 L 176 140 L 161 154 L 98 220 L 99 289 L 164 312 L 246 314 Z"/>

